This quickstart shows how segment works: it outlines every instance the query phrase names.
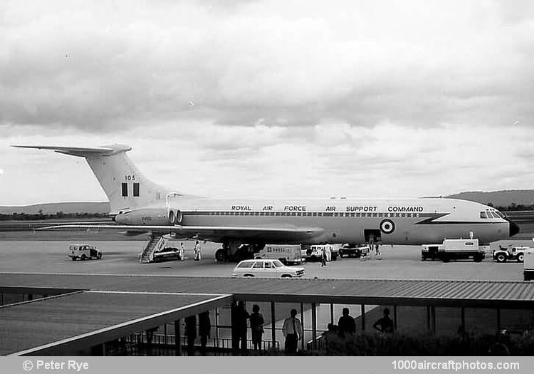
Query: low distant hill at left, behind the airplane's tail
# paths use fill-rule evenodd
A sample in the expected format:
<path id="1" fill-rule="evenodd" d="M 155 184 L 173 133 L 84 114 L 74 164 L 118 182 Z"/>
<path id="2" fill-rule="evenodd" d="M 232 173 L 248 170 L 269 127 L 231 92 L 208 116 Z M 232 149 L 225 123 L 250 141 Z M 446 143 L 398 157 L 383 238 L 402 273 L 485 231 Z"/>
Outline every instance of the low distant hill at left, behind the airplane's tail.
<path id="1" fill-rule="evenodd" d="M 0 214 L 26 213 L 38 214 L 42 210 L 43 214 L 63 213 L 108 213 L 110 212 L 109 202 L 51 202 L 46 204 L 21 205 L 19 207 L 2 207 Z"/>

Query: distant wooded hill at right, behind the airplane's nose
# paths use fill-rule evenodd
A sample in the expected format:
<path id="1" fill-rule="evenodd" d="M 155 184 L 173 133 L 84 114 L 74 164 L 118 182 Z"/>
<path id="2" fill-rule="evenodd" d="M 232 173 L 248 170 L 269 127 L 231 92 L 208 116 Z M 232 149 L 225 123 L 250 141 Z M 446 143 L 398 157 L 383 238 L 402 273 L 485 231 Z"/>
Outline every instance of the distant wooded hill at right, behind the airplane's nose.
<path id="1" fill-rule="evenodd" d="M 480 202 L 482 204 L 491 202 L 494 207 L 508 207 L 512 204 L 532 205 L 534 204 L 534 189 L 506 189 L 493 192 L 461 192 L 459 194 L 451 194 L 447 197 L 452 199 L 469 200 L 471 202 Z"/>

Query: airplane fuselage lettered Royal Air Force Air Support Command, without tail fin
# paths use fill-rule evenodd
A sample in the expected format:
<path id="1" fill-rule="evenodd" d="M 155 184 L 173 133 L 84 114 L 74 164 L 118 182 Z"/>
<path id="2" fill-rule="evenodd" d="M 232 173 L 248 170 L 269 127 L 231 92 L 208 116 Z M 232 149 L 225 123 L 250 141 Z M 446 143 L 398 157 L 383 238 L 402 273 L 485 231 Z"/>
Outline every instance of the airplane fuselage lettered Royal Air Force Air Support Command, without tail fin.
<path id="1" fill-rule="evenodd" d="M 172 199 L 169 208 L 184 227 L 309 227 L 322 229 L 310 237 L 256 235 L 258 243 L 382 244 L 440 243 L 468 238 L 481 243 L 509 237 L 510 223 L 495 209 L 457 199 Z M 169 224 L 167 207 L 152 207 L 118 217 L 122 224 Z M 129 216 L 129 217 L 128 217 Z M 152 216 L 150 219 L 147 217 Z M 482 218 L 485 216 L 485 218 Z M 239 234 L 236 237 L 239 238 Z M 206 239 L 206 238 L 201 238 Z M 216 234 L 207 239 L 232 239 Z"/>

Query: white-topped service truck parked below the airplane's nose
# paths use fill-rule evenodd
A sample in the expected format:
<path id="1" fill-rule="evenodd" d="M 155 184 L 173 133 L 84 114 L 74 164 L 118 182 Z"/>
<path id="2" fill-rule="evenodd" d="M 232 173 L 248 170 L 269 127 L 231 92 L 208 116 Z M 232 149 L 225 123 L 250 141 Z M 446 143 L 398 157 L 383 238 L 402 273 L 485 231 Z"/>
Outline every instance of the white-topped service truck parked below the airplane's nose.
<path id="1" fill-rule="evenodd" d="M 486 252 L 478 245 L 478 239 L 445 239 L 442 244 L 423 244 L 421 259 L 451 260 L 473 259 L 480 262 Z"/>

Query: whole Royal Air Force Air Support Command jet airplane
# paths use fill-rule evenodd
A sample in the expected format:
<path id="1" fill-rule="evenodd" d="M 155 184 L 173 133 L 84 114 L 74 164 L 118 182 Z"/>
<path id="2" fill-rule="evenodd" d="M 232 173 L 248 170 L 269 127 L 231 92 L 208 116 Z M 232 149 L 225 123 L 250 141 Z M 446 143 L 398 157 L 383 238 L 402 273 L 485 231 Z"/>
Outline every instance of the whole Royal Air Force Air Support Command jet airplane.
<path id="1" fill-rule="evenodd" d="M 64 224 L 46 229 L 112 229 L 152 239 L 171 235 L 221 243 L 217 261 L 236 259 L 242 244 L 441 243 L 475 237 L 481 244 L 512 237 L 519 227 L 493 207 L 459 199 L 211 199 L 174 192 L 148 180 L 127 145 L 14 145 L 85 157 L 110 201 L 116 224 Z"/>

